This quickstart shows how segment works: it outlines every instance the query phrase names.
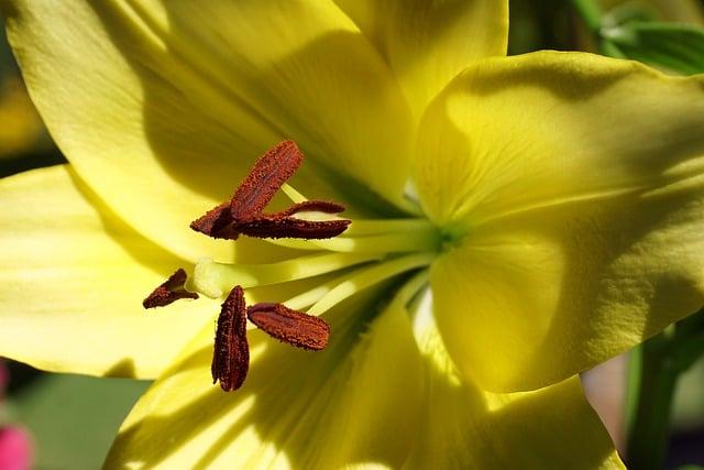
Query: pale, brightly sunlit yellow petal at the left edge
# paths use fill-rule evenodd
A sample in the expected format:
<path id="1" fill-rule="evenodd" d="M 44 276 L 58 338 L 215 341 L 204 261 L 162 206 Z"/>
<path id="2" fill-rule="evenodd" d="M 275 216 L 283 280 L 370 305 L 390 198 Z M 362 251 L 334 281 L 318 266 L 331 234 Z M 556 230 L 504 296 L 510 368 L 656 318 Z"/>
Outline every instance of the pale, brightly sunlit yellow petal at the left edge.
<path id="1" fill-rule="evenodd" d="M 68 166 L 0 183 L 0 354 L 56 372 L 153 379 L 209 323 L 212 304 L 145 311 L 142 299 L 183 262 L 87 194 Z"/>

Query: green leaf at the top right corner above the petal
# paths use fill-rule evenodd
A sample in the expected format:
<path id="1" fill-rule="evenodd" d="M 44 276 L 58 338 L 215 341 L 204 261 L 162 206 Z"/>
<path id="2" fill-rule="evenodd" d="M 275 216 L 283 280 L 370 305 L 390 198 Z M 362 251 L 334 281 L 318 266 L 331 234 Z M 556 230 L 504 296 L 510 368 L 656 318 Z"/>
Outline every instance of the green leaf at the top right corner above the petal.
<path id="1" fill-rule="evenodd" d="M 602 36 L 622 56 L 684 75 L 704 73 L 704 29 L 674 23 L 627 22 Z M 612 51 L 605 51 L 614 55 Z"/>

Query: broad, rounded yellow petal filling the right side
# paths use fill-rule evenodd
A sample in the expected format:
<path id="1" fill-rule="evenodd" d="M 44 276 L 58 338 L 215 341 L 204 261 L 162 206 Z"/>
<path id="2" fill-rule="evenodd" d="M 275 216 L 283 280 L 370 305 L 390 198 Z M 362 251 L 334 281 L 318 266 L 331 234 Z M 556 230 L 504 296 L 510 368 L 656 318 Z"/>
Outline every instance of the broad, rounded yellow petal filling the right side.
<path id="1" fill-rule="evenodd" d="M 541 387 L 704 303 L 701 78 L 586 54 L 492 61 L 425 124 L 424 204 L 465 232 L 431 282 L 466 376 Z"/>

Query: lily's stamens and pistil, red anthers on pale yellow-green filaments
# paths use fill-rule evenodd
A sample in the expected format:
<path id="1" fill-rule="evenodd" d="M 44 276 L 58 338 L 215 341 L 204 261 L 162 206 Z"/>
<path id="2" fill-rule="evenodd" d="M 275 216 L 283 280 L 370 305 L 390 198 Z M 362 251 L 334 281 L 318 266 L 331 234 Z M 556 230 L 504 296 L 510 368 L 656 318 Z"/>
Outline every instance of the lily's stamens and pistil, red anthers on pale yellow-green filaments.
<path id="1" fill-rule="evenodd" d="M 190 276 L 182 269 L 144 299 L 145 308 L 180 298 L 226 297 L 218 318 L 213 383 L 239 389 L 249 370 L 248 319 L 270 336 L 307 350 L 328 345 L 330 328 L 319 318 L 343 299 L 409 271 L 427 267 L 444 237 L 425 218 L 349 220 L 344 206 L 309 200 L 286 181 L 302 162 L 292 141 L 266 152 L 227 200 L 196 219 L 191 229 L 216 239 L 255 237 L 298 250 L 300 255 L 268 264 L 231 264 L 201 259 Z M 278 190 L 293 205 L 264 212 Z M 447 242 L 447 241 L 444 241 Z M 245 305 L 244 289 L 338 273 L 283 304 Z M 302 310 L 306 310 L 305 313 Z"/>

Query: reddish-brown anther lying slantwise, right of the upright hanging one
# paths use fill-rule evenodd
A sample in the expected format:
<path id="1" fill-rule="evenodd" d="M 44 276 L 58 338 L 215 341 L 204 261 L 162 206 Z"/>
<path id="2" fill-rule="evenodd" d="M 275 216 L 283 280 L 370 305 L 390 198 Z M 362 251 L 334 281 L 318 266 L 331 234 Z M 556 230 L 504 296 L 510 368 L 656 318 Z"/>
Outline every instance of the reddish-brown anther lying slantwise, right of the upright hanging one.
<path id="1" fill-rule="evenodd" d="M 328 346 L 330 327 L 321 318 L 282 304 L 256 304 L 246 315 L 258 328 L 289 345 L 316 351 Z"/>

